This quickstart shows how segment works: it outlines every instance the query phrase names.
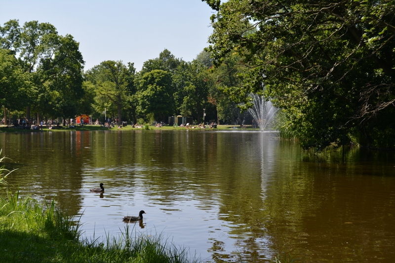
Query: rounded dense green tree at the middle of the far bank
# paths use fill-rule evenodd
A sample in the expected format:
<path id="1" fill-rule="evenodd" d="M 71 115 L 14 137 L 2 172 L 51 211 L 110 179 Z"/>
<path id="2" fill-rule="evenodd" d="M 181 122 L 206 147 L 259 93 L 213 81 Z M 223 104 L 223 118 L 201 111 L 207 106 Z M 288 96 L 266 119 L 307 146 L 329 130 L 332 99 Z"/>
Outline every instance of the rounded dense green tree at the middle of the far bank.
<path id="1" fill-rule="evenodd" d="M 174 109 L 171 74 L 154 69 L 145 73 L 139 84 L 140 112 L 151 113 L 155 120 L 165 121 Z"/>

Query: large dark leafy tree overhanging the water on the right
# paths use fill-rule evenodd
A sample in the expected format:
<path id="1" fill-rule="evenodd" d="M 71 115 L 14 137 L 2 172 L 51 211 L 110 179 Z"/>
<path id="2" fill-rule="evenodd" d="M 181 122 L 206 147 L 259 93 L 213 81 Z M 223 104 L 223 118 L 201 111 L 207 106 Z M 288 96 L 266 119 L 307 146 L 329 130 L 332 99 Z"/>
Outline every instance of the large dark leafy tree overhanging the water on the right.
<path id="1" fill-rule="evenodd" d="M 206 2 L 214 62 L 249 69 L 232 99 L 265 86 L 305 148 L 395 146 L 394 0 Z"/>

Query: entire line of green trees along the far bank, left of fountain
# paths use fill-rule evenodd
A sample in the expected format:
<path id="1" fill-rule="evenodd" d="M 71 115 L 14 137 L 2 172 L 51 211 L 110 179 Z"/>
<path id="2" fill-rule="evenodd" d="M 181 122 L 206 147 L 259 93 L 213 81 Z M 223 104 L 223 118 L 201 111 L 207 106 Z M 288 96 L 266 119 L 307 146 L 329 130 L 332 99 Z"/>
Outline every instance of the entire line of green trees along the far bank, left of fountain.
<path id="1" fill-rule="evenodd" d="M 79 43 L 38 21 L 0 27 L 0 106 L 4 119 L 74 118 L 89 114 L 130 123 L 163 121 L 169 116 L 193 117 L 237 124 L 240 110 L 218 87 L 241 85 L 228 66 L 213 69 L 202 51 L 192 62 L 164 49 L 136 72 L 133 63 L 103 61 L 84 71 Z M 226 65 L 226 64 L 224 64 Z M 231 72 L 228 72 L 231 70 Z M 232 73 L 232 70 L 234 71 Z M 230 73 L 230 74 L 228 74 Z M 220 81 L 217 76 L 223 75 Z"/>

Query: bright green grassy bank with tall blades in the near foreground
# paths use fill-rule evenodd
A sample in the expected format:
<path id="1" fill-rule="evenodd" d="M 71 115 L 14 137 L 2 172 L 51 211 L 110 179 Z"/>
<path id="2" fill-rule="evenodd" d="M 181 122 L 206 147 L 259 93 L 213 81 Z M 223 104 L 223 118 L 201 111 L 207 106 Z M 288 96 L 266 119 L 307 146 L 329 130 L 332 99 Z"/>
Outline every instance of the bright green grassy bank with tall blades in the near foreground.
<path id="1" fill-rule="evenodd" d="M 57 209 L 54 201 L 40 203 L 21 198 L 18 192 L 0 199 L 1 262 L 197 262 L 188 257 L 185 249 L 160 235 L 137 235 L 129 228 L 118 239 L 109 237 L 106 244 L 81 240 L 79 223 Z"/>

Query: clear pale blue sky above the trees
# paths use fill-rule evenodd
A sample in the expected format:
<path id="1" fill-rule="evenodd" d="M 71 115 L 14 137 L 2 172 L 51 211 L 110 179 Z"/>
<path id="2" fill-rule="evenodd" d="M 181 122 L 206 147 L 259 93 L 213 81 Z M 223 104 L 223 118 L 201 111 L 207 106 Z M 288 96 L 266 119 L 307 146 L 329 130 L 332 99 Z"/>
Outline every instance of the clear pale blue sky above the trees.
<path id="1" fill-rule="evenodd" d="M 195 59 L 208 46 L 213 12 L 201 0 L 0 0 L 0 25 L 49 23 L 79 42 L 85 70 L 114 60 L 139 71 L 165 48 Z"/>

